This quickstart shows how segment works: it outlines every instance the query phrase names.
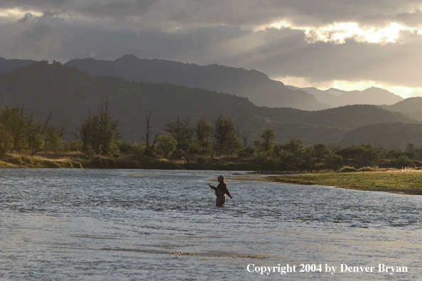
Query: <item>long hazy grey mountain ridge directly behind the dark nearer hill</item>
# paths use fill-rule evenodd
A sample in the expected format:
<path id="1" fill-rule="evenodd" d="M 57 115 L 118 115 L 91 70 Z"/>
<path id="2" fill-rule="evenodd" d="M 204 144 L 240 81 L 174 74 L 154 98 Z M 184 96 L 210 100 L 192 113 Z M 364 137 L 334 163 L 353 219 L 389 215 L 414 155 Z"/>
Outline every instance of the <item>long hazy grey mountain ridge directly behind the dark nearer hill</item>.
<path id="1" fill-rule="evenodd" d="M 247 97 L 257 106 L 292 107 L 303 110 L 326 109 L 303 91 L 293 91 L 282 82 L 269 79 L 256 70 L 223 65 L 194 65 L 170 60 L 141 60 L 124 55 L 117 60 L 70 60 L 65 65 L 77 67 L 93 77 L 113 76 L 129 81 L 168 83 Z"/>

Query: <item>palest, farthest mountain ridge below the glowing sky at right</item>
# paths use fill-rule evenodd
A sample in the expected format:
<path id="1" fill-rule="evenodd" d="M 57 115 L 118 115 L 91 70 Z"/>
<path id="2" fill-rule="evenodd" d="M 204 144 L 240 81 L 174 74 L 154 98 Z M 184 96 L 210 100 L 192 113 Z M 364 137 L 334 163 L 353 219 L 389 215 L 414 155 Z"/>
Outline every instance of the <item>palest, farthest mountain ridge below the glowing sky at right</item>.
<path id="1" fill-rule="evenodd" d="M 364 89 L 363 91 L 343 91 L 334 88 L 323 91 L 314 87 L 299 88 L 289 85 L 286 87 L 293 90 L 308 92 L 309 94 L 312 94 L 317 101 L 323 104 L 328 104 L 330 107 L 353 104 L 396 104 L 397 102 L 404 100 L 399 95 L 377 87 L 371 87 L 369 89 Z"/>

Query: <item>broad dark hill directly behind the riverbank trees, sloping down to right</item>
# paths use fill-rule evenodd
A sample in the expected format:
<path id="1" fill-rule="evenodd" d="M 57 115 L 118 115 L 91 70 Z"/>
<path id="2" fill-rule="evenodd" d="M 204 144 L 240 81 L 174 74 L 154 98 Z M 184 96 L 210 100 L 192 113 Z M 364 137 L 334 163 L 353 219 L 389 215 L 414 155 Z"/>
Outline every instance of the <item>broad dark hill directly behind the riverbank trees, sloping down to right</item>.
<path id="1" fill-rule="evenodd" d="M 38 62 L 0 74 L 0 106 L 24 104 L 27 112 L 44 120 L 53 113 L 54 122 L 67 124 L 67 139 L 80 127 L 89 112 L 97 112 L 106 97 L 112 114 L 119 118 L 123 140 L 142 141 L 145 110 L 151 112 L 153 127 L 163 133 L 168 121 L 217 116 L 233 117 L 239 132 L 249 133 L 249 145 L 266 126 L 276 129 L 277 141 L 291 138 L 305 144 L 336 144 L 353 129 L 380 122 L 418 123 L 401 113 L 379 106 L 354 105 L 320 111 L 259 107 L 245 97 L 167 83 L 127 81 L 119 77 L 92 77 L 60 62 Z"/>

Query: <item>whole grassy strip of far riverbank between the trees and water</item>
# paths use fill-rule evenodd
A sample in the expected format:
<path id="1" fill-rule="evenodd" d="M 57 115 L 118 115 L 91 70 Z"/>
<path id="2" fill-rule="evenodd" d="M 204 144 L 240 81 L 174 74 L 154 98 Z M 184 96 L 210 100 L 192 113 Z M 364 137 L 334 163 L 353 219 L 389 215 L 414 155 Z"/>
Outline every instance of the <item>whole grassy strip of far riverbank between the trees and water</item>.
<path id="1" fill-rule="evenodd" d="M 244 170 L 237 180 L 255 180 L 284 184 L 325 185 L 345 189 L 400 194 L 422 194 L 422 169 L 420 167 L 378 168 L 341 167 L 338 170 L 278 171 L 262 170 L 264 160 L 239 158 L 210 158 L 202 162 L 187 160 L 170 161 L 124 155 L 119 158 L 96 157 L 89 159 L 83 153 L 7 153 L 0 161 L 0 168 L 97 168 L 97 169 L 148 169 L 148 170 Z"/>

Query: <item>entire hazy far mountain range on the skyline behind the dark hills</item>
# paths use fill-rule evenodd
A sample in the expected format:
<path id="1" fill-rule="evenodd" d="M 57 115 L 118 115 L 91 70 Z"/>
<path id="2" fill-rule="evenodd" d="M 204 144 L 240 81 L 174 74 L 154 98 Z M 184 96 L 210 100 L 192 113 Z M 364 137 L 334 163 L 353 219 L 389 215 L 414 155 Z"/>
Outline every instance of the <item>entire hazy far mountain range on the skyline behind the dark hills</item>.
<path id="1" fill-rule="evenodd" d="M 0 57 L 0 72 L 11 72 L 33 62 L 35 61 L 5 60 Z M 200 66 L 170 60 L 146 60 L 134 55 L 124 55 L 114 61 L 75 59 L 65 65 L 77 67 L 92 77 L 121 77 L 129 81 L 168 83 L 235 94 L 247 97 L 257 106 L 320 110 L 352 104 L 390 105 L 403 100 L 396 94 L 375 87 L 350 92 L 340 89 L 323 91 L 313 87 L 298 88 L 269 79 L 256 70 L 222 65 Z"/>

